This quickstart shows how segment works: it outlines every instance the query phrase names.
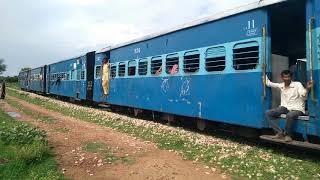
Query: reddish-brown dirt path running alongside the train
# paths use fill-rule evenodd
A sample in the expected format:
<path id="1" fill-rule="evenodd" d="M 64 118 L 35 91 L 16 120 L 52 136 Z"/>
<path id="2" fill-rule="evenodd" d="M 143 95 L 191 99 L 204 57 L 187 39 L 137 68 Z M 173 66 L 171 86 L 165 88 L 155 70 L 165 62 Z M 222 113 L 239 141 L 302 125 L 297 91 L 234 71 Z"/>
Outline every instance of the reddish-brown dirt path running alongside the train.
<path id="1" fill-rule="evenodd" d="M 203 164 L 185 161 L 174 152 L 159 150 L 153 143 L 70 118 L 14 97 L 8 98 L 33 112 L 54 119 L 51 123 L 40 122 L 21 112 L 19 118 L 47 131 L 59 167 L 68 178 L 130 180 L 227 178 Z M 1 102 L 0 107 L 6 112 L 19 112 L 5 102 Z M 92 151 L 90 148 L 102 151 Z"/>

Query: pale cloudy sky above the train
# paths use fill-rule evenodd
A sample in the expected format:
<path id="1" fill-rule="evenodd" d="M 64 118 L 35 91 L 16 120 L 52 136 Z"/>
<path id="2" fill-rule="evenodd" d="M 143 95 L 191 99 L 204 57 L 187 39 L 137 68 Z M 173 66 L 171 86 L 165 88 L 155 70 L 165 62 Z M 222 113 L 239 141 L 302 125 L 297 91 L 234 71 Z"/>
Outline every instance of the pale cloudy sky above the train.
<path id="1" fill-rule="evenodd" d="M 60 61 L 257 0 L 0 0 L 4 75 Z"/>

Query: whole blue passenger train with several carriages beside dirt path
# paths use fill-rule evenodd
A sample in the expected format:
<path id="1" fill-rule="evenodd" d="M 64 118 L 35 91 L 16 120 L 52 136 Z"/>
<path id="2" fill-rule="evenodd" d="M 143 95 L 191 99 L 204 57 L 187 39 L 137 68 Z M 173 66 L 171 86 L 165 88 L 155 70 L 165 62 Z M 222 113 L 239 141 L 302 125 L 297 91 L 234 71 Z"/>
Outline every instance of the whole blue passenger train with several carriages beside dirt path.
<path id="1" fill-rule="evenodd" d="M 109 59 L 110 93 L 101 69 Z M 172 69 L 175 67 L 175 72 Z M 257 130 L 264 112 L 279 105 L 264 75 L 277 81 L 291 69 L 315 82 L 308 114 L 299 117 L 292 144 L 319 148 L 320 1 L 263 0 L 100 52 L 20 73 L 23 90 L 214 121 Z M 283 117 L 282 117 L 283 118 Z M 284 126 L 284 119 L 280 120 Z M 302 143 L 302 141 L 304 141 Z M 312 143 L 306 143 L 312 142 Z"/>

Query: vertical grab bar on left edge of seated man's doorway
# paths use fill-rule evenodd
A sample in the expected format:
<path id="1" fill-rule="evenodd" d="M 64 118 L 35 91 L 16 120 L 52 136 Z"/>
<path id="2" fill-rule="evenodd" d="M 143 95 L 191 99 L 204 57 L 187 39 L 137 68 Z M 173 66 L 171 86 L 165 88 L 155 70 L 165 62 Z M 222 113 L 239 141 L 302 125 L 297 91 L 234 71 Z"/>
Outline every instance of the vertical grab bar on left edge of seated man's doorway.
<path id="1" fill-rule="evenodd" d="M 266 85 L 266 75 L 267 75 L 267 31 L 266 31 L 266 27 L 264 26 L 262 28 L 262 36 L 263 36 L 263 54 L 262 54 L 262 58 L 263 58 L 263 64 L 262 64 L 262 78 L 264 78 L 263 80 L 263 98 L 265 99 L 267 96 L 267 85 Z"/>

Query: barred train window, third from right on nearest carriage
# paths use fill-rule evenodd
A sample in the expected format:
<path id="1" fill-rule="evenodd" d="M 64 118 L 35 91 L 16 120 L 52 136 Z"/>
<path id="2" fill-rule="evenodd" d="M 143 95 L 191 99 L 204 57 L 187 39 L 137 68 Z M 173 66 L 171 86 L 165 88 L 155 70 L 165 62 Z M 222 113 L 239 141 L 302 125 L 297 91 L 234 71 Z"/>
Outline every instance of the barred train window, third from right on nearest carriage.
<path id="1" fill-rule="evenodd" d="M 199 51 L 187 52 L 184 55 L 184 72 L 197 72 L 200 65 L 200 53 Z"/>

